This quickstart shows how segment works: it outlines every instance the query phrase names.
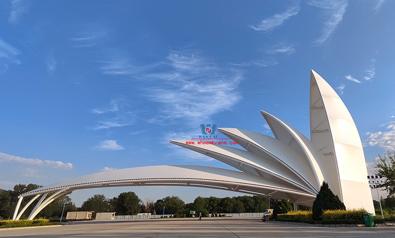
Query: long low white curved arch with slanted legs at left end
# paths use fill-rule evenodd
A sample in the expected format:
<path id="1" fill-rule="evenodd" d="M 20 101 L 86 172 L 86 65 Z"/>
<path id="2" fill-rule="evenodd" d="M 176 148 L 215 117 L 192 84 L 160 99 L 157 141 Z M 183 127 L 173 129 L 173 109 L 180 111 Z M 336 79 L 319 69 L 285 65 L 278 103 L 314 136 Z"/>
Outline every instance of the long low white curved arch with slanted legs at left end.
<path id="1" fill-rule="evenodd" d="M 155 175 L 155 177 L 147 176 L 150 174 Z M 175 174 L 178 176 L 175 177 Z M 312 205 L 315 199 L 314 195 L 287 184 L 235 170 L 197 165 L 159 165 L 94 173 L 21 194 L 13 219 L 18 220 L 26 208 L 40 196 L 42 197 L 30 213 L 29 220 L 32 220 L 54 199 L 72 191 L 122 186 L 190 186 L 260 196 L 268 196 L 270 194 L 275 197 L 288 198 L 291 202 L 302 205 Z M 49 193 L 53 194 L 46 198 Z M 35 197 L 18 213 L 22 199 L 32 196 Z"/>

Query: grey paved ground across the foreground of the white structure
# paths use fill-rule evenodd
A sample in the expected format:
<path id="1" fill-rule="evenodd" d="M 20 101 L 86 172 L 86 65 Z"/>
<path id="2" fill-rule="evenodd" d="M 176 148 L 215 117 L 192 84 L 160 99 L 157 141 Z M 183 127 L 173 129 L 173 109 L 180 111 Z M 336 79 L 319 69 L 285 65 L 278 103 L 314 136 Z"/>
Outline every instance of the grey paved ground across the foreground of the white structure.
<path id="1" fill-rule="evenodd" d="M 76 238 L 257 238 L 257 237 L 395 237 L 395 227 L 329 228 L 281 222 L 262 222 L 259 218 L 203 218 L 115 220 L 73 222 L 56 227 L 1 229 L 0 237 Z"/>

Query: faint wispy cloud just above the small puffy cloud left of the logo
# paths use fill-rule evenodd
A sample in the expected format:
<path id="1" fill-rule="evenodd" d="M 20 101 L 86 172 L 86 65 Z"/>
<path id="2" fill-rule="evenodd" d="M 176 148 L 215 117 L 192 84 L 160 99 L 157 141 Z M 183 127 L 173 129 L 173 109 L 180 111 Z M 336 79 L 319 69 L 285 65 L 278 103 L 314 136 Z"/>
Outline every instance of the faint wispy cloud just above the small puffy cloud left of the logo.
<path id="1" fill-rule="evenodd" d="M 94 108 L 90 111 L 93 114 L 101 115 L 93 130 L 108 129 L 111 127 L 128 126 L 134 123 L 135 114 L 129 110 L 129 105 L 125 99 L 113 99 L 107 106 Z"/>

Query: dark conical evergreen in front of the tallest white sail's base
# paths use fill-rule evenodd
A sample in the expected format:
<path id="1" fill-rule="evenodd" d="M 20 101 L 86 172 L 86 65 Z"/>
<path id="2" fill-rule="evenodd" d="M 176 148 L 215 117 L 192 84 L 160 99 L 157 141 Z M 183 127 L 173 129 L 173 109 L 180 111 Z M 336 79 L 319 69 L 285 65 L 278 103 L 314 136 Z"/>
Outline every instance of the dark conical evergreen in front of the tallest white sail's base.
<path id="1" fill-rule="evenodd" d="M 317 194 L 313 203 L 313 219 L 319 220 L 324 210 L 346 210 L 344 203 L 335 196 L 325 181 Z"/>

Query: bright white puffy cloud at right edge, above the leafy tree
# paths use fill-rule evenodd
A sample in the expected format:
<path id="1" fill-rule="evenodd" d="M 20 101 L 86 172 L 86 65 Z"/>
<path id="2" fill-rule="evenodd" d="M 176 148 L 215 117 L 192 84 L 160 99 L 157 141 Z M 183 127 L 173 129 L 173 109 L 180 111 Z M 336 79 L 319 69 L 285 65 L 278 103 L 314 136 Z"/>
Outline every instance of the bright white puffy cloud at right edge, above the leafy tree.
<path id="1" fill-rule="evenodd" d="M 393 118 L 393 117 L 391 117 Z M 395 150 L 395 121 L 389 121 L 382 126 L 387 126 L 386 131 L 368 132 L 369 145 L 378 146 L 386 150 Z"/>

